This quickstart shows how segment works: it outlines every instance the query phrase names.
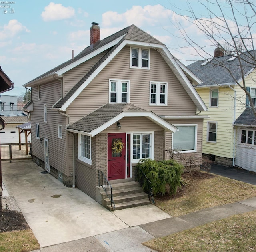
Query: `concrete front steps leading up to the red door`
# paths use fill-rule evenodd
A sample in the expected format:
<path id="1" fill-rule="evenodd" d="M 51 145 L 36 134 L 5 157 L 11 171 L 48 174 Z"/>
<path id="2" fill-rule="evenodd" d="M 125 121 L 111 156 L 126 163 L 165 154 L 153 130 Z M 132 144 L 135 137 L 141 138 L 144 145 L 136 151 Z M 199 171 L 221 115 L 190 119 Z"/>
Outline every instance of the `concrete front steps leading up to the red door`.
<path id="1" fill-rule="evenodd" d="M 102 205 L 110 211 L 151 204 L 148 194 L 143 191 L 139 182 L 130 181 L 112 184 L 111 186 L 116 209 L 111 207 L 111 202 L 106 193 L 101 192 Z"/>

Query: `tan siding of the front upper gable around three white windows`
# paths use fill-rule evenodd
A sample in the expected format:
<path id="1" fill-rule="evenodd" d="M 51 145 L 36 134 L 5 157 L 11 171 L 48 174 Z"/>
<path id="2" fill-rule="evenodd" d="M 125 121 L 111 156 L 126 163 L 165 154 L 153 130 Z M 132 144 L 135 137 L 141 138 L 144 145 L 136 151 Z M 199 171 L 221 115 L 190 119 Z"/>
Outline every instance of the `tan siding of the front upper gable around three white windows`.
<path id="1" fill-rule="evenodd" d="M 130 103 L 158 115 L 196 113 L 195 104 L 156 50 L 150 50 L 150 70 L 134 69 L 130 68 L 130 47 L 126 46 L 70 104 L 71 123 L 108 103 L 109 79 L 130 80 Z M 168 83 L 168 106 L 149 106 L 150 81 Z"/>

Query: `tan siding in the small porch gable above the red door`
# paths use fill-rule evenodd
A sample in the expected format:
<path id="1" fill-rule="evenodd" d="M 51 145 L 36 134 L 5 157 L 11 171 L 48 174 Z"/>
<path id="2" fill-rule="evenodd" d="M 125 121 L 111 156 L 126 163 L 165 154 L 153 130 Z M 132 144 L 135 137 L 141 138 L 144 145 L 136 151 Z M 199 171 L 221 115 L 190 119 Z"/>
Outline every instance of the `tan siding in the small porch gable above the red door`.
<path id="1" fill-rule="evenodd" d="M 156 123 L 150 121 L 146 117 L 124 117 L 119 120 L 121 129 L 119 130 L 116 123 L 113 123 L 110 127 L 102 131 L 102 133 L 116 133 L 116 132 L 138 132 L 138 131 L 155 131 L 163 130 L 162 127 Z"/>

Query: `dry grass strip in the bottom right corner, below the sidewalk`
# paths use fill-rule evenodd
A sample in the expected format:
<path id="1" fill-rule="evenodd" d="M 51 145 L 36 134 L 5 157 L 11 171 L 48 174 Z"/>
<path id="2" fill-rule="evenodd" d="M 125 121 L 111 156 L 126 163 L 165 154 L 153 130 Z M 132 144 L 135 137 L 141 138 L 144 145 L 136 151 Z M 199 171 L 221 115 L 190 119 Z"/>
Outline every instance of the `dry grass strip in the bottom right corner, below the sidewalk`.
<path id="1" fill-rule="evenodd" d="M 256 250 L 256 211 L 150 240 L 143 245 L 160 252 L 246 252 Z"/>

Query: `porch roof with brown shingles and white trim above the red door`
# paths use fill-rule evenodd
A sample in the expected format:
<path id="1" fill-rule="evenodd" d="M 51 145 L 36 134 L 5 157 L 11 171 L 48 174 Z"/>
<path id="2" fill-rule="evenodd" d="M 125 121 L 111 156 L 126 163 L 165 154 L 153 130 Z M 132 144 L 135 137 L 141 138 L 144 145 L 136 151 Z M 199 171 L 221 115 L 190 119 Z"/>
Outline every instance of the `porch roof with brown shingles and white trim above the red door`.
<path id="1" fill-rule="evenodd" d="M 166 131 L 175 132 L 176 127 L 151 111 L 147 111 L 130 103 L 106 104 L 89 115 L 69 125 L 67 129 L 76 133 L 88 133 L 92 137 L 122 119 L 123 117 L 147 117 Z"/>

